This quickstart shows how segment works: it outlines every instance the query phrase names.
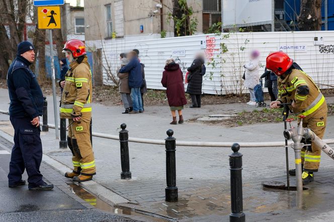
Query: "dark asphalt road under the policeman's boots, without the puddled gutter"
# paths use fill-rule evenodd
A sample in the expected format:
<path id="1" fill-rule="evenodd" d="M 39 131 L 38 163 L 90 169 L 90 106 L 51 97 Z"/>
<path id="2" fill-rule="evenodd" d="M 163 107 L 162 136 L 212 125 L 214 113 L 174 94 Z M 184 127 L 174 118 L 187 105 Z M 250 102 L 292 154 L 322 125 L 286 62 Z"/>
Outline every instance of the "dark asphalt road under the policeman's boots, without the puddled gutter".
<path id="1" fill-rule="evenodd" d="M 64 192 L 68 185 L 59 182 L 51 191 L 28 190 L 28 185 L 16 188 L 8 187 L 10 153 L 4 149 L 8 144 L 0 138 L 0 221 L 138 221 L 120 215 L 99 210 L 75 194 Z M 41 172 L 48 181 L 55 180 L 56 173 L 42 163 Z M 23 179 L 27 180 L 25 173 Z M 73 198 L 74 195 L 74 198 Z M 86 205 L 86 206 L 85 206 Z"/>

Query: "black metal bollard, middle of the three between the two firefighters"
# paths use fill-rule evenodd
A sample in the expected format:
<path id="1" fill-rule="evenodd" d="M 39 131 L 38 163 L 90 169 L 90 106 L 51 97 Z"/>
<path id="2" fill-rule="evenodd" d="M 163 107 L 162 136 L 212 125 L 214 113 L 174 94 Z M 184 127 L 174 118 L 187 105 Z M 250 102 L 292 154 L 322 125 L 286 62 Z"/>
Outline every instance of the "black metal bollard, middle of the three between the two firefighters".
<path id="1" fill-rule="evenodd" d="M 165 139 L 166 148 L 166 180 L 167 186 L 164 189 L 165 200 L 168 202 L 178 201 L 178 187 L 176 186 L 176 139 L 173 137 L 173 130 L 168 130 L 168 138 Z"/>

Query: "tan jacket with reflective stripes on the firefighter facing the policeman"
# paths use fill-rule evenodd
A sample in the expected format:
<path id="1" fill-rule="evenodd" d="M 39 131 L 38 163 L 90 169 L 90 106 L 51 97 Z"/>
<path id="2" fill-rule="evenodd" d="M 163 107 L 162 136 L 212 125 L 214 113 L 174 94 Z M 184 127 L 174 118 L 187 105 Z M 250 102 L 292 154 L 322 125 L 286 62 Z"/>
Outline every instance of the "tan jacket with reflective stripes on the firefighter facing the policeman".
<path id="1" fill-rule="evenodd" d="M 90 122 L 92 117 L 92 73 L 88 58 L 79 64 L 74 61 L 65 75 L 65 85 L 61 96 L 60 118 L 71 119 L 80 116 Z"/>

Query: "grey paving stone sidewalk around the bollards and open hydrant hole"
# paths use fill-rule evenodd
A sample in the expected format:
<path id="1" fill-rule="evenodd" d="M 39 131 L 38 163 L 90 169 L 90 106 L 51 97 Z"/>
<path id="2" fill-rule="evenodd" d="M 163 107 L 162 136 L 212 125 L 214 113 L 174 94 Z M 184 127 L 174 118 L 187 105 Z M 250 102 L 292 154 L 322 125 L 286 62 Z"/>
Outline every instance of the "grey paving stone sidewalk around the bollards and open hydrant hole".
<path id="1" fill-rule="evenodd" d="M 3 101 L 0 97 L 0 103 Z M 229 112 L 248 108 L 244 104 L 203 106 L 203 109 L 186 109 L 191 117 L 204 113 Z M 169 125 L 168 107 L 146 107 L 143 115 L 119 114 L 121 107 L 94 105 L 93 131 L 117 134 L 119 125 L 128 125 L 131 137 L 164 139 Z M 190 113 L 200 112 L 200 114 Z M 231 111 L 232 112 L 232 111 Z M 235 111 L 233 111 L 235 112 Z M 49 120 L 51 116 L 49 117 Z M 8 117 L 0 115 L 0 120 Z M 51 121 L 50 121 L 51 122 Z M 333 138 L 334 117 L 328 118 L 325 138 Z M 9 123 L 7 122 L 7 125 Z M 100 125 L 101 124 L 101 125 Z M 6 128 L 3 122 L 1 128 Z M 98 125 L 98 126 L 97 126 Z M 283 124 L 262 124 L 237 128 L 204 125 L 173 126 L 177 140 L 258 142 L 282 141 Z M 59 150 L 54 131 L 42 134 L 44 152 L 71 167 L 69 150 Z M 131 200 L 141 207 L 162 215 L 185 221 L 228 221 L 230 212 L 229 162 L 230 148 L 177 147 L 177 186 L 179 202 L 164 201 L 165 151 L 162 145 L 129 143 L 132 180 L 120 180 L 119 142 L 94 138 L 97 172 L 94 180 Z M 323 155 L 315 182 L 304 191 L 303 209 L 296 209 L 295 192 L 267 190 L 261 187 L 266 180 L 286 181 L 285 149 L 282 147 L 242 148 L 243 199 L 247 221 L 303 221 L 312 217 L 327 221 L 332 214 L 334 191 L 334 161 Z M 293 150 L 289 149 L 290 167 L 293 167 Z M 291 178 L 294 184 L 294 177 Z M 307 200 L 307 201 L 306 201 Z M 322 213 L 328 213 L 328 217 Z M 321 215 L 320 215 L 321 214 Z M 314 218 L 315 219 L 315 218 Z"/>

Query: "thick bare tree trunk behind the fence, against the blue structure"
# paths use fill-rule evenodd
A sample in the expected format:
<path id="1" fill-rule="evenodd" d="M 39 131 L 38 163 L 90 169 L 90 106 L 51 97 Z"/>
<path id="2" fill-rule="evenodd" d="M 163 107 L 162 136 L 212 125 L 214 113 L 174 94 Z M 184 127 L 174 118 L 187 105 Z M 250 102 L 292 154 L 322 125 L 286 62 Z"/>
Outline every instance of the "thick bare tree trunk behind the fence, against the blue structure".
<path id="1" fill-rule="evenodd" d="M 321 0 L 301 0 L 298 28 L 300 31 L 321 30 Z"/>

